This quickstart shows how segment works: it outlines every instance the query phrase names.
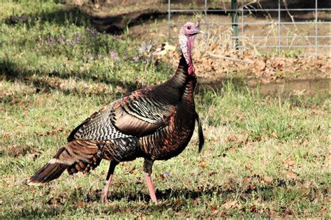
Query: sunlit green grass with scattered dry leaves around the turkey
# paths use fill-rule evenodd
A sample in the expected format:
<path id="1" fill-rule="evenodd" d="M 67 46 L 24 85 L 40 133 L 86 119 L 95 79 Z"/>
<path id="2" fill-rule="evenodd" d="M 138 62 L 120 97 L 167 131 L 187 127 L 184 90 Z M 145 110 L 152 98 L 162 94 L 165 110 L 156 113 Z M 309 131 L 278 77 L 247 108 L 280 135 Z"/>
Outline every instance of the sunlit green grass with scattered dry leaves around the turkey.
<path id="1" fill-rule="evenodd" d="M 8 1 L 0 10 L 1 218 L 330 217 L 330 95 L 262 96 L 231 80 L 196 94 L 203 153 L 195 133 L 182 154 L 156 161 L 159 205 L 142 159 L 117 167 L 106 205 L 98 201 L 107 161 L 89 175 L 27 186 L 91 113 L 173 70 L 139 56 L 129 36 L 98 33 L 83 15 L 75 22 L 59 3 Z M 28 22 L 8 22 L 23 13 Z"/>

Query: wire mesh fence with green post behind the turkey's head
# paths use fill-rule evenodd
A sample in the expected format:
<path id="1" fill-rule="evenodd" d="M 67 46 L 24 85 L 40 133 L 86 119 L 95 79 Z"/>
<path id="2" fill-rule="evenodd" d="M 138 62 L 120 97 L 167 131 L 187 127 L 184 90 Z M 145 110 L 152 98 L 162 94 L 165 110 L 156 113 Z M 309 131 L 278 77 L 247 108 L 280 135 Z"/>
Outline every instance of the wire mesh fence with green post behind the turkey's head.
<path id="1" fill-rule="evenodd" d="M 253 45 L 262 53 L 281 55 L 293 52 L 299 56 L 330 57 L 330 3 L 323 2 L 321 7 L 321 2 L 315 0 L 314 7 L 297 8 L 288 6 L 284 0 L 273 1 L 271 7 L 261 5 L 259 1 L 253 1 L 253 4 L 243 0 L 240 3 L 237 0 L 226 2 L 229 9 L 215 9 L 208 0 L 200 1 L 196 9 L 191 9 L 194 5 L 186 9 L 187 3 L 178 4 L 168 0 L 169 41 L 175 37 L 172 28 L 182 25 L 182 22 L 176 21 L 175 16 L 200 14 L 203 17 L 200 24 L 205 25 L 207 31 L 215 26 L 230 29 L 233 39 L 231 46 L 237 49 L 245 50 Z M 224 1 L 223 6 L 226 6 Z M 211 16 L 212 20 L 209 19 Z M 269 32 L 261 33 L 262 29 L 268 29 Z"/>

